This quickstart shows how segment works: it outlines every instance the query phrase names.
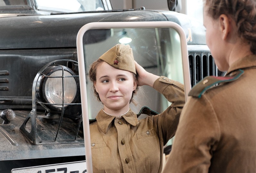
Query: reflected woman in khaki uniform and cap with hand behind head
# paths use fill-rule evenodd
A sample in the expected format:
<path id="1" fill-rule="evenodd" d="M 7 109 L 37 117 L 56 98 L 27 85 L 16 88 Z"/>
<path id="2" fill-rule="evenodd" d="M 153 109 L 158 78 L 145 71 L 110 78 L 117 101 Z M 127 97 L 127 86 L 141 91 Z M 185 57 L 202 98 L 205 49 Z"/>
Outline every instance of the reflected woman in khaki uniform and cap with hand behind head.
<path id="1" fill-rule="evenodd" d="M 124 44 L 95 61 L 89 77 L 103 103 L 90 124 L 93 171 L 161 172 L 163 146 L 174 136 L 185 104 L 183 84 L 147 72 Z M 143 85 L 153 87 L 172 104 L 158 115 L 138 120 L 129 104 Z"/>

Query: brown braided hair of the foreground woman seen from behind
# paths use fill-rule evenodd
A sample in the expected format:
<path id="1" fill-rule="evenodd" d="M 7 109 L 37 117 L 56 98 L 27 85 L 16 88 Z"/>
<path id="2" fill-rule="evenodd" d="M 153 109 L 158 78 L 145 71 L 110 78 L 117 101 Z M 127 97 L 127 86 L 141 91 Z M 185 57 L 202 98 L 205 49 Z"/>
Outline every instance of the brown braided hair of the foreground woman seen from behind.
<path id="1" fill-rule="evenodd" d="M 204 0 L 204 4 L 213 19 L 221 14 L 234 19 L 238 36 L 247 40 L 256 54 L 256 0 Z"/>

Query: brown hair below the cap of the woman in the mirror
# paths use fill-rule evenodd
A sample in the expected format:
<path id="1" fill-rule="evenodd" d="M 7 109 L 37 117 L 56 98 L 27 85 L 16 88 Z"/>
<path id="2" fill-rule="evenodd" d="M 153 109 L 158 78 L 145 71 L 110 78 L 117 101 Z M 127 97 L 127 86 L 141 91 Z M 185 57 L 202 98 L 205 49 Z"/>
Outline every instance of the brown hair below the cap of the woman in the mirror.
<path id="1" fill-rule="evenodd" d="M 102 62 L 104 62 L 104 61 L 101 60 L 101 59 L 98 59 L 97 61 L 93 62 L 93 63 L 91 64 L 91 66 L 90 66 L 89 78 L 90 78 L 90 80 L 91 80 L 93 83 L 96 82 L 97 67 L 98 67 Z M 132 72 L 131 72 L 131 73 L 132 73 Z M 132 73 L 132 75 L 133 75 L 134 81 L 138 81 L 137 76 L 136 76 L 134 73 Z M 96 91 L 94 85 L 93 85 L 93 90 L 94 90 L 94 94 L 97 96 L 98 101 L 101 102 L 100 96 L 99 96 L 99 94 L 97 93 L 97 91 Z M 133 96 L 134 96 L 135 94 L 137 94 L 137 91 L 138 91 L 138 90 L 139 90 L 139 86 L 137 86 L 136 89 L 132 92 L 132 97 L 131 97 L 131 99 L 130 99 L 130 103 L 133 103 L 134 105 L 136 105 L 137 103 L 136 103 L 136 101 L 133 99 Z"/>

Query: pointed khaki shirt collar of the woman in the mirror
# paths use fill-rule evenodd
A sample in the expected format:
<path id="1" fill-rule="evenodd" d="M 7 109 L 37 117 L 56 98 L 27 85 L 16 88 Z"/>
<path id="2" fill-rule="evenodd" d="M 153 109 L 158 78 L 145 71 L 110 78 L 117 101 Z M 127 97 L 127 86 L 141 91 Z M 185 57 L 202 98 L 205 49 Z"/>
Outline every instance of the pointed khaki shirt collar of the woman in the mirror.
<path id="1" fill-rule="evenodd" d="M 100 130 L 103 131 L 104 134 L 107 133 L 109 125 L 115 118 L 117 117 L 107 114 L 103 110 L 100 110 L 98 112 L 96 120 Z M 126 122 L 128 122 L 132 126 L 137 126 L 139 124 L 137 115 L 131 110 L 131 108 L 129 108 L 129 111 L 126 114 L 122 115 L 120 119 L 122 118 L 125 119 Z"/>

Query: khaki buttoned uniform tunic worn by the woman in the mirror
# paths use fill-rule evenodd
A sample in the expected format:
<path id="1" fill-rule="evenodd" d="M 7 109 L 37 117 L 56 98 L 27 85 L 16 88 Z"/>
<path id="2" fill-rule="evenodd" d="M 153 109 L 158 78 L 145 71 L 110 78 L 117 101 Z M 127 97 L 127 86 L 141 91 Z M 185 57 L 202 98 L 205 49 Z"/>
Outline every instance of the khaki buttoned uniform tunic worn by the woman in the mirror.
<path id="1" fill-rule="evenodd" d="M 161 76 L 153 88 L 172 104 L 138 120 L 131 109 L 121 118 L 99 111 L 90 124 L 94 172 L 161 172 L 163 146 L 174 136 L 185 104 L 184 86 Z"/>

